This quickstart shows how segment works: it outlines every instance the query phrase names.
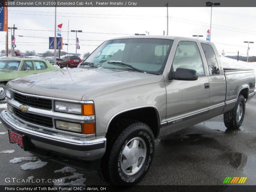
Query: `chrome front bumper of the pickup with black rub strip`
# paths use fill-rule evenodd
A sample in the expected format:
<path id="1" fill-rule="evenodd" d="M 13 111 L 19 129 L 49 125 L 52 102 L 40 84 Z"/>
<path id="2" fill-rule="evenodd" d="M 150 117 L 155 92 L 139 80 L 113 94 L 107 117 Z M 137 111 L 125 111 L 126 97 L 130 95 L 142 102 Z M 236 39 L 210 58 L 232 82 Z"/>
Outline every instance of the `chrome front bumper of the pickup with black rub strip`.
<path id="1" fill-rule="evenodd" d="M 106 151 L 103 137 L 78 138 L 32 127 L 15 119 L 8 110 L 0 113 L 0 120 L 7 130 L 25 135 L 34 149 L 84 161 L 100 159 Z"/>

